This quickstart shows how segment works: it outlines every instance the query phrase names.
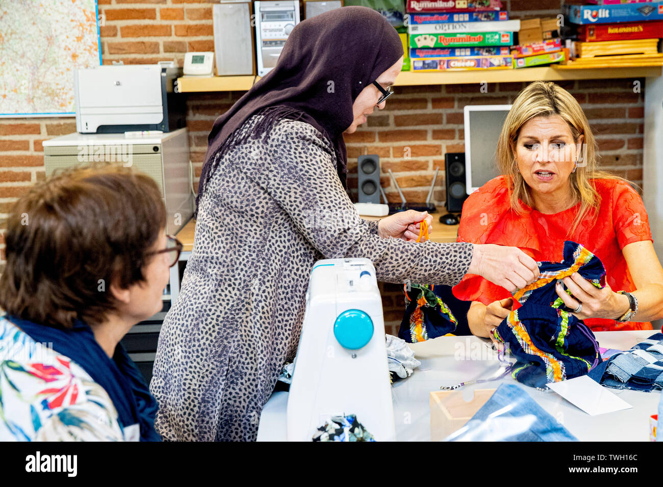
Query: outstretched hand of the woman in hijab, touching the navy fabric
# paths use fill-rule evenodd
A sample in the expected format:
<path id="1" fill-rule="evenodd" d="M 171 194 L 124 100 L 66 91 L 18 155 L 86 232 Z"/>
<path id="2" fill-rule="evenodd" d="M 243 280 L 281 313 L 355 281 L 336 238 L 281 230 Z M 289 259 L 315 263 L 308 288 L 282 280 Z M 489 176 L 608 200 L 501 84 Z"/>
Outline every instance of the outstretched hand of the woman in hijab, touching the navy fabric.
<path id="1" fill-rule="evenodd" d="M 509 292 L 538 279 L 536 261 L 517 247 L 475 244 L 467 274 L 479 274 Z"/>

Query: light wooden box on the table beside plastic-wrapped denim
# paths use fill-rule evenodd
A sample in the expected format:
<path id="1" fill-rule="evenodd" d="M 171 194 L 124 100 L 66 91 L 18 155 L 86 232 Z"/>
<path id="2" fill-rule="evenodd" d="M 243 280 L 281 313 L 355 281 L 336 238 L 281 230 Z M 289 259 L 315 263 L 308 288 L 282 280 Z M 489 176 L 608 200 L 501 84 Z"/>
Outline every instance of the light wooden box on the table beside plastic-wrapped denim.
<path id="1" fill-rule="evenodd" d="M 486 404 L 495 389 L 476 389 L 470 402 L 462 391 L 430 393 L 430 441 L 442 441 L 469 421 Z"/>

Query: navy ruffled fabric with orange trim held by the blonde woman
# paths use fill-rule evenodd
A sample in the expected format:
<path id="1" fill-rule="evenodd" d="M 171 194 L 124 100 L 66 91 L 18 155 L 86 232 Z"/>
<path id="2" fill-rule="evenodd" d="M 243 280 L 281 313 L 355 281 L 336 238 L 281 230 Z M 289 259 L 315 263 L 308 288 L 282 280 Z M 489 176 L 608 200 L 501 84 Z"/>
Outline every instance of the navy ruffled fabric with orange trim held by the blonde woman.
<path id="1" fill-rule="evenodd" d="M 493 336 L 508 343 L 518 362 L 511 375 L 518 382 L 546 388 L 587 374 L 600 360 L 599 343 L 591 329 L 564 309 L 562 298 L 555 292 L 558 280 L 577 272 L 597 288 L 605 286 L 605 269 L 601 260 L 575 242 L 564 243 L 562 262 L 538 262 L 540 277 L 536 282 L 514 293 L 514 305 Z M 568 294 L 571 294 L 566 290 Z"/>

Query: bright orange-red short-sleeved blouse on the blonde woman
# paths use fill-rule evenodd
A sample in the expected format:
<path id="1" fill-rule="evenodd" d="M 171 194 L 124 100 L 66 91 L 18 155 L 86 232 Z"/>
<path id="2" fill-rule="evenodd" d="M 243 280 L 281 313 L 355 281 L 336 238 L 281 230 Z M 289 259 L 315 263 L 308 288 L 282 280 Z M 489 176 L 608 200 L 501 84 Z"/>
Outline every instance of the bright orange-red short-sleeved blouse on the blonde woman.
<path id="1" fill-rule="evenodd" d="M 575 231 L 567 235 L 580 203 L 560 213 L 546 215 L 521 202 L 525 212 L 518 215 L 511 209 L 505 178 L 499 176 L 465 200 L 458 241 L 517 246 L 538 262 L 560 262 L 564 241 L 570 240 L 582 244 L 601 259 L 613 291 L 633 291 L 635 286 L 621 249 L 633 242 L 652 240 L 644 203 L 626 182 L 597 179 L 593 184 L 601 197 L 597 217 L 590 212 Z M 453 288 L 453 294 L 459 299 L 481 301 L 485 305 L 512 297 L 505 288 L 475 274 L 467 274 Z M 584 321 L 593 331 L 652 329 L 648 322 L 619 323 L 601 318 Z"/>

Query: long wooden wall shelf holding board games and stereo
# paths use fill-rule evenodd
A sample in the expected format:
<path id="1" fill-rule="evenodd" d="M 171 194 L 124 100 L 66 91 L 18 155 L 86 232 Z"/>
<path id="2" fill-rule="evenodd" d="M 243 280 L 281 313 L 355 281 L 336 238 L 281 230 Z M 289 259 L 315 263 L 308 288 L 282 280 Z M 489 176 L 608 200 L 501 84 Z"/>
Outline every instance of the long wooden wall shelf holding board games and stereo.
<path id="1" fill-rule="evenodd" d="M 446 73 L 415 73 L 404 71 L 396 79 L 397 86 L 412 85 L 455 85 L 463 83 L 512 83 L 520 81 L 561 81 L 561 80 L 601 80 L 619 78 L 648 78 L 661 76 L 662 66 L 622 66 L 577 68 L 575 66 L 544 66 L 543 68 L 522 68 L 513 70 L 475 70 Z M 259 76 L 213 76 L 178 78 L 178 89 L 182 93 L 201 91 L 246 91 L 253 86 Z"/>

